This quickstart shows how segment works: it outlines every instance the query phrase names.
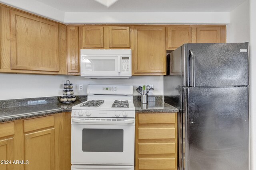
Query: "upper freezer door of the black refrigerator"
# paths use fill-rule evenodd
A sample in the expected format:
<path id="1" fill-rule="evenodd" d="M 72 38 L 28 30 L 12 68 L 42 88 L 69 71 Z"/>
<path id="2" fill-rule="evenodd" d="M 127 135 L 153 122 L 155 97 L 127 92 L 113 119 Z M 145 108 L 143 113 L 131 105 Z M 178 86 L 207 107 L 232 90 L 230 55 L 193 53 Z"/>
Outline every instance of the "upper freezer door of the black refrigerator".
<path id="1" fill-rule="evenodd" d="M 248 43 L 183 45 L 183 86 L 247 86 Z"/>

